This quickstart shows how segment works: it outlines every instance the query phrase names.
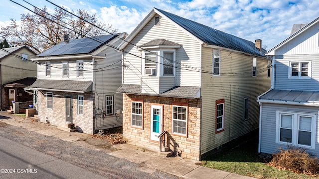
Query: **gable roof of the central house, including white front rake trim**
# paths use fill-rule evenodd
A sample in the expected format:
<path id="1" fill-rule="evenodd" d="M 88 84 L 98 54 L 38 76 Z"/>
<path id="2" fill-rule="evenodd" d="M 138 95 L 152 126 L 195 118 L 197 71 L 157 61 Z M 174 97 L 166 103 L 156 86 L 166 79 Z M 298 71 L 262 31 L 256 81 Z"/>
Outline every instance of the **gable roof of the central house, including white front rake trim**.
<path id="1" fill-rule="evenodd" d="M 178 15 L 166 12 L 164 10 L 153 8 L 151 12 L 142 20 L 142 22 L 133 30 L 133 32 L 126 38 L 126 41 L 131 41 L 139 31 L 151 20 L 151 18 L 159 14 L 167 18 L 168 21 L 178 25 L 203 45 L 213 45 L 223 48 L 228 48 L 240 52 L 245 52 L 257 56 L 265 57 L 266 50 L 263 53 L 255 47 L 255 43 L 239 38 L 237 36 L 225 33 L 223 31 L 214 29 L 212 27 L 200 24 L 198 22 L 180 17 Z M 120 48 L 123 49 L 129 42 L 123 42 Z"/>

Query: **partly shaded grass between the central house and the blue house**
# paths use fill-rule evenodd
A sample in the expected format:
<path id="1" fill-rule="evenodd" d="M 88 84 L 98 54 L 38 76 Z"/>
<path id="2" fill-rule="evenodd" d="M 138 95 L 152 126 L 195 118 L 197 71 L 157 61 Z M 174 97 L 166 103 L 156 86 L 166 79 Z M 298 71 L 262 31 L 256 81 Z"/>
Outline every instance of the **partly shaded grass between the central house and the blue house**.
<path id="1" fill-rule="evenodd" d="M 202 162 L 204 167 L 258 179 L 318 179 L 267 166 L 258 155 L 258 138 Z"/>

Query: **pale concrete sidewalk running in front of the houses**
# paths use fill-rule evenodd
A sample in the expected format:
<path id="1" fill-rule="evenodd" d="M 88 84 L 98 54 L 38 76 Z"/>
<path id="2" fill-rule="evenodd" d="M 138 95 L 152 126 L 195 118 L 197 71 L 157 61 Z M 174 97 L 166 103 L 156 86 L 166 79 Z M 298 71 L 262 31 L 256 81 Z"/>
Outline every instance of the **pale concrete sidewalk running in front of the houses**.
<path id="1" fill-rule="evenodd" d="M 55 126 L 35 122 L 31 119 L 24 119 L 4 111 L 0 111 L 0 121 L 68 142 L 83 141 L 92 138 L 92 135 L 89 134 L 77 132 L 70 133 L 57 129 Z M 160 155 L 160 152 L 139 148 L 137 146 L 118 144 L 113 147 L 119 150 L 110 152 L 108 153 L 109 155 L 140 164 L 141 171 L 150 174 L 160 170 L 182 179 L 254 179 L 225 171 L 201 167 L 201 163 L 195 160 L 184 159 L 181 157 L 164 157 Z"/>

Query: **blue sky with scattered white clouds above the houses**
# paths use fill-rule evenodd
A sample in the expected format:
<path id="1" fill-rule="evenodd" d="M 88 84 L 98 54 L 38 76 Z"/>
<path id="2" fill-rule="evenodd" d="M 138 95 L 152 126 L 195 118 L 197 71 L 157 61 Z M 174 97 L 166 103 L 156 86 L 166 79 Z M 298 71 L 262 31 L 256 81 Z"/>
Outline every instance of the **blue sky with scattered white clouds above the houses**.
<path id="1" fill-rule="evenodd" d="M 46 0 L 12 0 L 30 9 L 54 5 Z M 32 13 L 10 0 L 1 0 L 0 26 L 10 18 Z M 68 10 L 85 9 L 118 32 L 131 33 L 153 7 L 202 23 L 271 49 L 290 36 L 293 24 L 309 23 L 319 16 L 319 0 L 50 0 Z M 264 46 L 265 47 L 265 46 Z"/>

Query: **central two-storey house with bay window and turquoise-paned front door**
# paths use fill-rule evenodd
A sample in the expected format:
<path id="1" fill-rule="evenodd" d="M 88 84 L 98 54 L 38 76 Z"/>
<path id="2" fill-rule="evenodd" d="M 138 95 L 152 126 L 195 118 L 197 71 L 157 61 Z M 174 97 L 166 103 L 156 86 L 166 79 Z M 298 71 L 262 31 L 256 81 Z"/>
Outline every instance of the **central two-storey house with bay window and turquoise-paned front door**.
<path id="1" fill-rule="evenodd" d="M 251 41 L 154 8 L 123 53 L 123 138 L 200 160 L 259 127 L 270 60 Z M 263 50 L 266 52 L 265 50 Z"/>

